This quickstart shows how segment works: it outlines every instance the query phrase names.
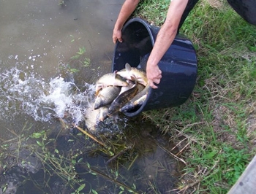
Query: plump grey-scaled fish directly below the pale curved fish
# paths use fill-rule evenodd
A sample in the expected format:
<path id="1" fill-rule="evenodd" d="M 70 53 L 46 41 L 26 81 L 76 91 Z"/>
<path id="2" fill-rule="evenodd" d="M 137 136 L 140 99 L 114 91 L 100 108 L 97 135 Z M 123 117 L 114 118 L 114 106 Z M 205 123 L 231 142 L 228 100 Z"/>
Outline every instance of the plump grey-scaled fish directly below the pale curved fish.
<path id="1" fill-rule="evenodd" d="M 120 93 L 120 86 L 108 86 L 99 91 L 94 101 L 94 109 L 110 104 Z"/>

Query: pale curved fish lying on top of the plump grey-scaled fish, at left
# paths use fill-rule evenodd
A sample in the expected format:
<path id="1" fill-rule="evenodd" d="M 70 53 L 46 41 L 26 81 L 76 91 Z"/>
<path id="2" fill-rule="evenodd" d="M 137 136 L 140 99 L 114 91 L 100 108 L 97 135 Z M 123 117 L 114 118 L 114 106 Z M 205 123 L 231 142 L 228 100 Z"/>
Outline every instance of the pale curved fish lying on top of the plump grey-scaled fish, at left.
<path id="1" fill-rule="evenodd" d="M 102 90 L 102 88 L 106 88 L 110 85 L 127 86 L 128 83 L 127 83 L 127 80 L 124 79 L 124 77 L 121 77 L 121 75 L 116 74 L 116 72 L 104 74 L 96 82 L 96 88 L 95 88 L 96 96 L 99 94 L 99 90 Z"/>

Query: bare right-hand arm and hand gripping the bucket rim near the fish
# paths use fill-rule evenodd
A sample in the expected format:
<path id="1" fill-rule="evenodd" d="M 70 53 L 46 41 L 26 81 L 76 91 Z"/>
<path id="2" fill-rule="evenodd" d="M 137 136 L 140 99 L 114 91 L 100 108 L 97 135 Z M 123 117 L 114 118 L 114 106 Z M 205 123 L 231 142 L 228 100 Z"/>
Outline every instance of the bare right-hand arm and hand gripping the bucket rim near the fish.
<path id="1" fill-rule="evenodd" d="M 176 37 L 178 24 L 184 9 L 187 6 L 187 2 L 188 0 L 171 1 L 165 23 L 157 34 L 157 39 L 153 50 L 151 51 L 151 55 L 148 58 L 146 67 L 148 82 L 151 88 L 157 88 L 157 86 L 154 85 L 154 82 L 159 84 L 160 79 L 162 78 L 162 71 L 159 69 L 158 63 L 162 56 L 165 55 L 170 44 L 173 43 L 173 39 Z"/>

